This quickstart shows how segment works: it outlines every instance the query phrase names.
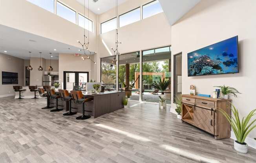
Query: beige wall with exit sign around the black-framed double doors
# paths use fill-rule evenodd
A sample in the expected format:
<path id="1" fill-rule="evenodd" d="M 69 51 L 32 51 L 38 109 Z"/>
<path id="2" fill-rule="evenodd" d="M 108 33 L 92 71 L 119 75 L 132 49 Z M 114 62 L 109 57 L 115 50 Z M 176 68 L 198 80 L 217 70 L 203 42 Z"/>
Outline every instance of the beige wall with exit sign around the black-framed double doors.
<path id="1" fill-rule="evenodd" d="M 63 82 L 64 71 L 84 71 L 89 72 L 89 80 L 91 79 L 93 69 L 97 66 L 90 60 L 82 60 L 81 56 L 74 56 L 74 54 L 59 54 L 59 82 Z"/>

